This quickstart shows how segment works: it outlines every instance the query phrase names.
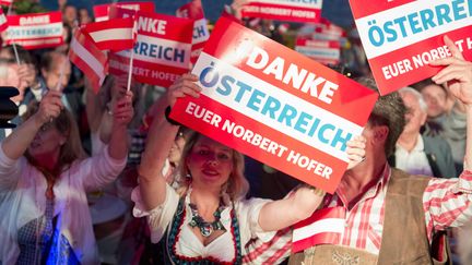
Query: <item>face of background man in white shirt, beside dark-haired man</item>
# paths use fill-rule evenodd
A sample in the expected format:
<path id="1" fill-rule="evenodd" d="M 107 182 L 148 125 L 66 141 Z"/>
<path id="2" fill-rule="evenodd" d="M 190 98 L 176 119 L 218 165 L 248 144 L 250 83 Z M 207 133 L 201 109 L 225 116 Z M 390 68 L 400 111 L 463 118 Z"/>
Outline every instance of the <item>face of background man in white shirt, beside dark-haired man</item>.
<path id="1" fill-rule="evenodd" d="M 405 115 L 406 124 L 404 133 L 420 133 L 421 128 L 426 122 L 427 113 L 420 107 L 418 98 L 412 93 L 400 93 L 408 109 Z"/>

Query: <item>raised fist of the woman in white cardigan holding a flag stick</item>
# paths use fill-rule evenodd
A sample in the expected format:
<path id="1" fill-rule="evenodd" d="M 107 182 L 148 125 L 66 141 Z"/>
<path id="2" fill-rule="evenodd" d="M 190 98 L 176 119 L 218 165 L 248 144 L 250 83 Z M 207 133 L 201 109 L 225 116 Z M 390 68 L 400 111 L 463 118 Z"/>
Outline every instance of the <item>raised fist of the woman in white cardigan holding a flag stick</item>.
<path id="1" fill-rule="evenodd" d="M 39 125 L 50 122 L 60 115 L 60 111 L 63 108 L 61 96 L 61 92 L 48 91 L 43 97 L 42 101 L 39 103 L 39 109 L 34 115 L 34 118 L 36 122 L 39 123 Z"/>

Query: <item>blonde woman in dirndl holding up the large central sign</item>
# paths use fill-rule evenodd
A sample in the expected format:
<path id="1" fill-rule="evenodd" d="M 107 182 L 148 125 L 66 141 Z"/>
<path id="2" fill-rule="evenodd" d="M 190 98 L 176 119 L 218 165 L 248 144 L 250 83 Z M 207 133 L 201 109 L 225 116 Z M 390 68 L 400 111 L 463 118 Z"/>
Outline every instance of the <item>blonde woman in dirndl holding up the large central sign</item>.
<path id="1" fill-rule="evenodd" d="M 197 76 L 185 74 L 170 86 L 167 98 L 198 97 Z M 168 113 L 168 110 L 166 111 Z M 161 112 L 164 117 L 164 113 Z M 148 216 L 157 261 L 154 264 L 276 264 L 290 252 L 291 236 L 274 240 L 266 256 L 248 253 L 248 243 L 268 242 L 278 230 L 311 215 L 322 192 L 300 188 L 284 200 L 246 200 L 248 182 L 240 153 L 206 136 L 187 138 L 179 164 L 179 189 L 162 176 L 162 168 L 179 127 L 170 119 L 154 121 L 139 168 L 140 185 L 132 194 L 133 214 Z M 364 155 L 364 142 L 350 142 L 353 164 Z M 354 147 L 354 148 L 352 148 Z M 252 256 L 249 256 L 249 255 Z"/>

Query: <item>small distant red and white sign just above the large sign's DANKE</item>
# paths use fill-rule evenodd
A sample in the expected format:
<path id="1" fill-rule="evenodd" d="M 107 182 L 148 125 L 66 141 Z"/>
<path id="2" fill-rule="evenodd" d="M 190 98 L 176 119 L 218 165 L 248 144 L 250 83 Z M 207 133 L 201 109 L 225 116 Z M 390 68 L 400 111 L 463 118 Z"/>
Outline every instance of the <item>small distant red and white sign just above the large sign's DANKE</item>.
<path id="1" fill-rule="evenodd" d="M 339 41 L 297 38 L 295 50 L 322 64 L 338 64 L 341 58 L 341 45 Z"/>

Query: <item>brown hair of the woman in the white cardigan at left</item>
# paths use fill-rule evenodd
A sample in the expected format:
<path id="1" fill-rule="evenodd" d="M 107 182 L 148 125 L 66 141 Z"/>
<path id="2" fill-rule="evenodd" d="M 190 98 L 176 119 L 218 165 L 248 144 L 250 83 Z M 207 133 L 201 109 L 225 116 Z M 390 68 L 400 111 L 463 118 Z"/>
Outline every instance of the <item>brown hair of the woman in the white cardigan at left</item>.
<path id="1" fill-rule="evenodd" d="M 39 103 L 34 100 L 28 105 L 27 111 L 23 115 L 23 120 L 27 120 L 34 113 L 37 112 L 39 108 Z M 52 121 L 52 125 L 66 136 L 66 142 L 61 146 L 59 152 L 58 167 L 59 169 L 64 169 L 70 167 L 70 165 L 78 160 L 84 159 L 86 157 L 85 152 L 82 148 L 82 143 L 79 134 L 79 128 L 72 113 L 63 108 L 59 116 Z M 26 150 L 26 157 L 31 159 L 31 155 Z"/>

